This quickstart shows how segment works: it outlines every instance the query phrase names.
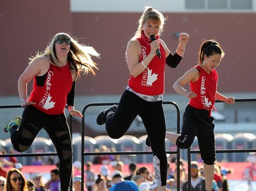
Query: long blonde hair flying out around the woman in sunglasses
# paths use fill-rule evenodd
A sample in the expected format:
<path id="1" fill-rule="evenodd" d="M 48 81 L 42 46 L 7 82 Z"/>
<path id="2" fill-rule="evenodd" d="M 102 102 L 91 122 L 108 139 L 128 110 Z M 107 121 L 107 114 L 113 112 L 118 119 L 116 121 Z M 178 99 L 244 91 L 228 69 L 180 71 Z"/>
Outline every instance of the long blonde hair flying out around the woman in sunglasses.
<path id="1" fill-rule="evenodd" d="M 47 56 L 49 62 L 53 65 L 59 67 L 58 64 L 63 64 L 57 58 L 57 54 L 55 51 L 55 42 L 58 39 L 68 39 L 70 40 L 70 52 L 68 52 L 68 62 L 74 69 L 76 69 L 76 73 L 80 76 L 80 73 L 88 73 L 89 71 L 95 75 L 94 69 L 98 69 L 96 67 L 96 63 L 91 59 L 91 56 L 100 57 L 100 54 L 96 52 L 96 50 L 91 46 L 85 46 L 83 44 L 79 44 L 79 42 L 74 38 L 68 35 L 67 33 L 57 33 L 51 43 L 46 46 L 44 52 L 37 52 L 35 56 L 31 56 L 29 58 L 31 63 L 33 60 Z"/>

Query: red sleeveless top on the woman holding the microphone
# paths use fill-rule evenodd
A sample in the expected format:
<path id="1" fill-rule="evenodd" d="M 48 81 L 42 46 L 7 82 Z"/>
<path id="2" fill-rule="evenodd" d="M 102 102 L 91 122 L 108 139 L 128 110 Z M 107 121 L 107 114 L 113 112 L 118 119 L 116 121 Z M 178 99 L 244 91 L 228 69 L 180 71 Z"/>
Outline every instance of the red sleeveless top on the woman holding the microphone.
<path id="1" fill-rule="evenodd" d="M 159 37 L 157 36 L 156 39 Z M 141 55 L 139 62 L 150 54 L 150 39 L 148 39 L 143 31 L 141 37 L 138 38 L 141 44 Z M 160 44 L 161 58 L 154 56 L 147 68 L 137 77 L 132 77 L 128 80 L 128 86 L 135 92 L 145 95 L 158 95 L 164 93 L 165 87 L 165 49 Z"/>

